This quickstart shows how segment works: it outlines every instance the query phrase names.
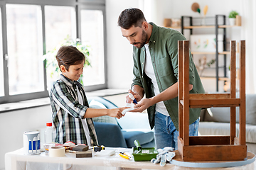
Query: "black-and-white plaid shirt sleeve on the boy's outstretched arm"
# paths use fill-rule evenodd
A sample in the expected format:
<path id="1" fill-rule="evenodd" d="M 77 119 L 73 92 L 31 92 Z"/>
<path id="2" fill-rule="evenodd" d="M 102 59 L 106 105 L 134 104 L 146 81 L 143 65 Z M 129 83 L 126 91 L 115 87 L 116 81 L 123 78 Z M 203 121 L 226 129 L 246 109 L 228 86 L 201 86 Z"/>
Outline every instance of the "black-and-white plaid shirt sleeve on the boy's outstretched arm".
<path id="1" fill-rule="evenodd" d="M 88 107 L 75 101 L 71 93 L 73 92 L 68 91 L 64 83 L 58 82 L 54 84 L 52 89 L 53 102 L 73 117 L 83 119 Z"/>

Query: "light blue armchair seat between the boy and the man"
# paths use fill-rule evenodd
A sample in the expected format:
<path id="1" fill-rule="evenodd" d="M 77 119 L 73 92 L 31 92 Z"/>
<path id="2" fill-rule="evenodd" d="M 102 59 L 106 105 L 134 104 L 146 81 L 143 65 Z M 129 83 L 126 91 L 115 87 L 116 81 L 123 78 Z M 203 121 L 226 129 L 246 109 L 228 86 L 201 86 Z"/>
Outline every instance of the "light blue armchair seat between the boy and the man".
<path id="1" fill-rule="evenodd" d="M 122 130 L 122 134 L 124 135 L 127 147 L 135 147 L 134 140 L 138 140 L 140 145 L 145 145 L 154 140 L 154 132 L 152 131 Z"/>

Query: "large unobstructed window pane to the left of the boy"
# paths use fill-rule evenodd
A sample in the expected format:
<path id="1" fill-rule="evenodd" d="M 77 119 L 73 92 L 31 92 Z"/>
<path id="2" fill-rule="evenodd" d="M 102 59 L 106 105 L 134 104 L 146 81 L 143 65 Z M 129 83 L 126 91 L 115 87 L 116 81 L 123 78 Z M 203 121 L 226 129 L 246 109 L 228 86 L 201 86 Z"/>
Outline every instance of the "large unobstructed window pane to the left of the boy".
<path id="1" fill-rule="evenodd" d="M 41 8 L 6 5 L 9 94 L 44 90 Z"/>

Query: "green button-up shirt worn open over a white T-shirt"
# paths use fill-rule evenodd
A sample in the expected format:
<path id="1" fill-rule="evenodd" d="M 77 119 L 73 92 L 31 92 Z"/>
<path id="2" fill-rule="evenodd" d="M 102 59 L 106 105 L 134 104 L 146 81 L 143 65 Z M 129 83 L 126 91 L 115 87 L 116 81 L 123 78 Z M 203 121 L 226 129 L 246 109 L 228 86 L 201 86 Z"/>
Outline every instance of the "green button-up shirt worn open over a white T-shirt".
<path id="1" fill-rule="evenodd" d="M 178 81 L 178 40 L 186 40 L 186 38 L 177 30 L 162 28 L 156 26 L 154 23 L 150 24 L 153 26 L 153 30 L 149 39 L 149 51 L 157 85 L 161 93 Z M 142 86 L 146 98 L 151 98 L 154 96 L 154 87 L 151 79 L 144 72 L 145 58 L 145 47 L 141 49 L 137 47 L 133 48 L 134 79 L 132 86 Z M 189 84 L 193 85 L 193 89 L 190 91 L 191 94 L 205 93 L 191 54 L 189 62 Z M 178 130 L 178 97 L 164 101 L 164 105 Z M 155 108 L 156 106 L 154 105 L 147 109 L 151 128 L 154 128 Z M 189 124 L 196 121 L 200 113 L 201 108 L 190 108 Z"/>

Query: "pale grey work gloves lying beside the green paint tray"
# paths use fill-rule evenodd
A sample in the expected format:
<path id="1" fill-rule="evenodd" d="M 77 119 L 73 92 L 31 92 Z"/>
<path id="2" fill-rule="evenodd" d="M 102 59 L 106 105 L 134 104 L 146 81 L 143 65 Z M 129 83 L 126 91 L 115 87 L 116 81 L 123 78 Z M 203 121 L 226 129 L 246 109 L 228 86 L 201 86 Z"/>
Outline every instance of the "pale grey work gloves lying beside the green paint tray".
<path id="1" fill-rule="evenodd" d="M 166 161 L 170 162 L 171 159 L 175 157 L 175 152 L 173 147 L 164 147 L 164 149 L 157 149 L 159 154 L 156 155 L 156 159 L 151 159 L 151 162 L 154 164 L 159 164 L 160 166 L 165 166 Z"/>

